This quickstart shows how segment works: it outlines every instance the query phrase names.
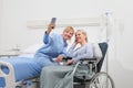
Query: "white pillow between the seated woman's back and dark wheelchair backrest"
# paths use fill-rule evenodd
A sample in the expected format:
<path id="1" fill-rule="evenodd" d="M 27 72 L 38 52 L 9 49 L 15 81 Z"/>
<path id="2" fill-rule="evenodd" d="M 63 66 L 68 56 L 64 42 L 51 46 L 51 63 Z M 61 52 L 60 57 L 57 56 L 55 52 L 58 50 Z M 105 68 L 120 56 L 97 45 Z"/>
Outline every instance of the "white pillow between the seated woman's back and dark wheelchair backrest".
<path id="1" fill-rule="evenodd" d="M 94 53 L 94 57 L 98 58 L 98 62 L 100 62 L 100 59 L 102 58 L 102 52 L 101 48 L 99 46 L 99 43 L 93 43 L 93 53 Z"/>

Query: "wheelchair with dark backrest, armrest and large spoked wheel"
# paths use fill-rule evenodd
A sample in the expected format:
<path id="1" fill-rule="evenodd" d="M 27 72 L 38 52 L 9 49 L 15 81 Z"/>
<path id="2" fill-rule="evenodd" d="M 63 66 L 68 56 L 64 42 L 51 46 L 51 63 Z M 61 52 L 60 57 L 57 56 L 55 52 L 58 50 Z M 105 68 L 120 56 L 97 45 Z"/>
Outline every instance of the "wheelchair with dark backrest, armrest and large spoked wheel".
<path id="1" fill-rule="evenodd" d="M 108 51 L 108 43 L 99 43 L 102 51 L 102 58 L 96 63 L 96 58 L 82 58 L 76 63 L 73 73 L 73 88 L 115 88 L 111 76 L 101 72 L 103 61 Z M 79 67 L 88 66 L 88 75 L 76 76 Z M 81 73 L 84 70 L 80 69 Z M 91 75 L 90 75 L 91 74 Z"/>

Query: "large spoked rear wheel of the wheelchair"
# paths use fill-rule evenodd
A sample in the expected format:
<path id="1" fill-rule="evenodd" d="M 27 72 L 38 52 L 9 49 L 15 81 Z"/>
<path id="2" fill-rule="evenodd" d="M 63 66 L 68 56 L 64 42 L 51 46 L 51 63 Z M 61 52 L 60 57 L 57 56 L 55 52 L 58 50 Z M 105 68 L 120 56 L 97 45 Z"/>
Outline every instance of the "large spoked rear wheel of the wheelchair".
<path id="1" fill-rule="evenodd" d="M 88 88 L 115 88 L 113 79 L 104 72 L 95 74 Z"/>

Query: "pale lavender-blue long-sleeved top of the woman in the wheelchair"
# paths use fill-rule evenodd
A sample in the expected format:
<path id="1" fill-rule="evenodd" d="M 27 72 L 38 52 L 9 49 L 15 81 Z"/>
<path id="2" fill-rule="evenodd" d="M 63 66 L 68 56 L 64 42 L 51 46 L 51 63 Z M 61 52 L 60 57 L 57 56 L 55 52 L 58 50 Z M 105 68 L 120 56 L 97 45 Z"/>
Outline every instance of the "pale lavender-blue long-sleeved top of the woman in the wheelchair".
<path id="1" fill-rule="evenodd" d="M 93 46 L 91 43 L 86 43 L 78 50 L 74 50 L 74 45 L 72 45 L 68 51 L 68 56 L 74 59 L 76 63 L 80 58 L 91 58 L 93 57 Z"/>

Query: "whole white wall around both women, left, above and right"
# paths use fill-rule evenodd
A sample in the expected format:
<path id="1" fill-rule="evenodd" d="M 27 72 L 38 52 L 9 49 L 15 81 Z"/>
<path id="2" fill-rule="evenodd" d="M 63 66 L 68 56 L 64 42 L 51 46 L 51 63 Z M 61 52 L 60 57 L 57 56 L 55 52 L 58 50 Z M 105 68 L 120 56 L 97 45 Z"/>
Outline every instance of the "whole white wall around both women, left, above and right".
<path id="1" fill-rule="evenodd" d="M 29 20 L 45 18 L 88 18 L 112 12 L 109 74 L 116 88 L 133 87 L 133 10 L 127 0 L 0 0 L 0 52 L 42 42 L 43 30 L 27 28 Z M 60 2 L 60 3 L 59 3 Z M 2 10 L 1 10 L 2 8 Z"/>

